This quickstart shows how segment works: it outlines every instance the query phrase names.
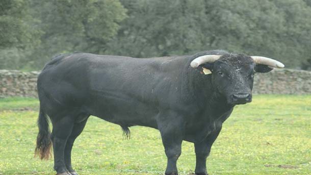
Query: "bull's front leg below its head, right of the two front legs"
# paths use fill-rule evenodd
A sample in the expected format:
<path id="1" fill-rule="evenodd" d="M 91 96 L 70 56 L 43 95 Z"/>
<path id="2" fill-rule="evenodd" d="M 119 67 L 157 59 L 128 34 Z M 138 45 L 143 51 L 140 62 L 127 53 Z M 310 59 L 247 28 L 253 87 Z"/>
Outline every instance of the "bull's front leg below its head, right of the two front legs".
<path id="1" fill-rule="evenodd" d="M 203 141 L 194 143 L 195 156 L 196 156 L 196 165 L 195 165 L 195 174 L 197 175 L 206 175 L 206 158 L 210 155 L 211 147 L 218 137 L 221 130 L 221 126 L 213 131 L 208 137 Z"/>

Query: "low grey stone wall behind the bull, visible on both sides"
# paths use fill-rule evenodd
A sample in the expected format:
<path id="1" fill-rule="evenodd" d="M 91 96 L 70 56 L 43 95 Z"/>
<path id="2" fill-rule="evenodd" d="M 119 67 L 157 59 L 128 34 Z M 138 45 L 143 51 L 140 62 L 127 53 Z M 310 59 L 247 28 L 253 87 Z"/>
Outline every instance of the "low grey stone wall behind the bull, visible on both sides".
<path id="1" fill-rule="evenodd" d="M 0 70 L 0 97 L 37 97 L 38 71 Z M 275 69 L 255 75 L 254 94 L 311 94 L 311 72 Z"/>

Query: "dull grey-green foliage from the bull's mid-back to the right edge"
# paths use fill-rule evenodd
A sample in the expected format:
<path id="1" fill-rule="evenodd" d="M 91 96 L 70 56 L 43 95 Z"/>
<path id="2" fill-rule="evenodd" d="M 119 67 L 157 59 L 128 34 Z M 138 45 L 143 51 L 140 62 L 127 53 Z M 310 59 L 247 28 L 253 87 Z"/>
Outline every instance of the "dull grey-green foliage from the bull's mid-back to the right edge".
<path id="1" fill-rule="evenodd" d="M 122 1 L 128 18 L 111 54 L 134 57 L 227 49 L 297 68 L 310 58 L 311 8 L 304 1 Z"/>

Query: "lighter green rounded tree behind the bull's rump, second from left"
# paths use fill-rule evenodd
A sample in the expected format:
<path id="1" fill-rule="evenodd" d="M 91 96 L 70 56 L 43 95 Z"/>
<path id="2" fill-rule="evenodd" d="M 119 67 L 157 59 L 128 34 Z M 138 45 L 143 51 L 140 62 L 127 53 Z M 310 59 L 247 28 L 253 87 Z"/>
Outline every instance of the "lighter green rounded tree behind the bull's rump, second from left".
<path id="1" fill-rule="evenodd" d="M 36 60 L 32 62 L 35 67 L 57 53 L 105 53 L 119 22 L 126 17 L 126 9 L 115 0 L 42 0 L 33 1 L 32 6 L 45 31 L 41 46 L 31 57 Z"/>

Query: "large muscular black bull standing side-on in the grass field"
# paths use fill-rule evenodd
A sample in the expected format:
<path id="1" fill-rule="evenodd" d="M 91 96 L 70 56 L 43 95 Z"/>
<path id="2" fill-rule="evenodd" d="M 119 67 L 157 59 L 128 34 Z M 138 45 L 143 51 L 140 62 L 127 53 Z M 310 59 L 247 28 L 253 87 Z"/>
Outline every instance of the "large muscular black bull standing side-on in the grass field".
<path id="1" fill-rule="evenodd" d="M 198 68 L 202 55 L 223 55 Z M 204 74 L 202 67 L 212 71 Z M 207 174 L 206 157 L 235 105 L 251 102 L 254 72 L 272 68 L 245 55 L 206 51 L 193 56 L 137 59 L 92 54 L 60 55 L 38 77 L 40 112 L 36 154 L 54 149 L 58 174 L 77 174 L 71 148 L 90 115 L 128 127 L 158 129 L 167 156 L 165 174 L 177 174 L 182 141 L 194 143 L 196 174 Z M 47 116 L 53 124 L 49 132 Z"/>

